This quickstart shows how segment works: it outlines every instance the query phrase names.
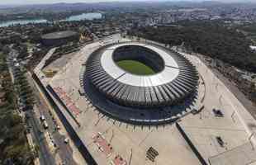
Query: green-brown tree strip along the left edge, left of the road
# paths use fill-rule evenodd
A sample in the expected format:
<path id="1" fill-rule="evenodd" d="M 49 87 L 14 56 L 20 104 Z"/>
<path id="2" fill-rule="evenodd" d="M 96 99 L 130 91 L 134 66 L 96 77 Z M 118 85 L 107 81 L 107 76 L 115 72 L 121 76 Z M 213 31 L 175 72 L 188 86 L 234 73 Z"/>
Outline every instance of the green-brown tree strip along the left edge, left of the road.
<path id="1" fill-rule="evenodd" d="M 0 106 L 0 164 L 33 164 L 34 154 L 27 143 L 25 124 L 17 114 L 17 95 L 1 52 L 0 78 L 0 91 L 5 93 Z"/>

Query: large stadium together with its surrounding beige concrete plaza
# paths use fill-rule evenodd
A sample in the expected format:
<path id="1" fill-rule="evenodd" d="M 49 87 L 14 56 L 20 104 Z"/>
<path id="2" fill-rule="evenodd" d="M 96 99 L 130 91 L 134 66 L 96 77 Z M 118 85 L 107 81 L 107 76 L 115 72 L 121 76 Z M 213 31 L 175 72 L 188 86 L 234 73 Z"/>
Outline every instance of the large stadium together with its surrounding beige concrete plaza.
<path id="1" fill-rule="evenodd" d="M 33 76 L 88 164 L 256 161 L 254 117 L 197 54 L 119 34 L 55 50 Z"/>

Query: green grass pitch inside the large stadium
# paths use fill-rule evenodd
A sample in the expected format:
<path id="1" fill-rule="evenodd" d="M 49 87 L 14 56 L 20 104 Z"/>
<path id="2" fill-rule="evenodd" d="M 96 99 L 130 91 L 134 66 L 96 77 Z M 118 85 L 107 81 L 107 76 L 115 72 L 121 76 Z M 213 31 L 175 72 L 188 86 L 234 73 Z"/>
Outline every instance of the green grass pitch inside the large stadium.
<path id="1" fill-rule="evenodd" d="M 149 75 L 154 74 L 154 70 L 149 68 L 147 65 L 134 60 L 122 60 L 117 62 L 117 65 L 126 70 L 129 73 L 134 73 L 138 75 Z"/>

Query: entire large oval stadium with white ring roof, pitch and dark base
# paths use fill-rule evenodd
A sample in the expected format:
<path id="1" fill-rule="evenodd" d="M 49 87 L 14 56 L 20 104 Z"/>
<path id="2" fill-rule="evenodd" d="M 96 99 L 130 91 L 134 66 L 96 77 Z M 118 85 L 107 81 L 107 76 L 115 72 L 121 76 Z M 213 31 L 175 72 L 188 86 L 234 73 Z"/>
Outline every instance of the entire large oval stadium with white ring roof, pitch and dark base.
<path id="1" fill-rule="evenodd" d="M 83 78 L 88 99 L 115 120 L 172 122 L 197 97 L 196 68 L 181 54 L 140 42 L 105 45 L 90 54 Z"/>

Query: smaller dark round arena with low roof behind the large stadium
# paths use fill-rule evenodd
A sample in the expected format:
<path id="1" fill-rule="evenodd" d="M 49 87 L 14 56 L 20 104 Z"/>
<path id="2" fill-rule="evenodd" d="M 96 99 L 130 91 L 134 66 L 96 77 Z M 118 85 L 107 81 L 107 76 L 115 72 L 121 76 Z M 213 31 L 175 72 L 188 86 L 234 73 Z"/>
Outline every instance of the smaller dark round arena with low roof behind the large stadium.
<path id="1" fill-rule="evenodd" d="M 44 45 L 64 45 L 67 42 L 79 40 L 79 35 L 75 31 L 57 31 L 41 36 Z"/>

